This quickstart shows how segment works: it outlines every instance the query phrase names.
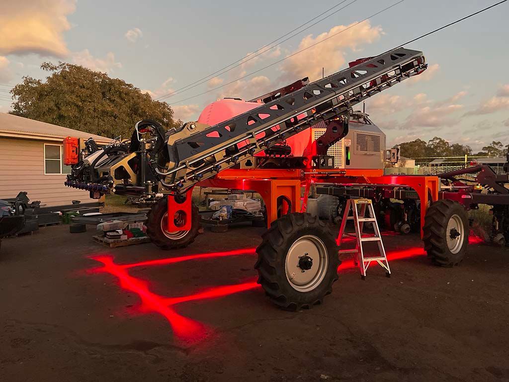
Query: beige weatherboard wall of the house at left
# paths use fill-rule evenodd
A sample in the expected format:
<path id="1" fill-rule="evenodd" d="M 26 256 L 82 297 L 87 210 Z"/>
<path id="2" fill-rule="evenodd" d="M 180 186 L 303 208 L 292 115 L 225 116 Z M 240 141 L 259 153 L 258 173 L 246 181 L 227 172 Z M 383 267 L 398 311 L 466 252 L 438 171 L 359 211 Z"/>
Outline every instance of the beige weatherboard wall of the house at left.
<path id="1" fill-rule="evenodd" d="M 66 175 L 44 174 L 44 141 L 0 138 L 0 199 L 26 191 L 41 206 L 92 202 L 87 191 L 64 186 L 65 179 Z"/>

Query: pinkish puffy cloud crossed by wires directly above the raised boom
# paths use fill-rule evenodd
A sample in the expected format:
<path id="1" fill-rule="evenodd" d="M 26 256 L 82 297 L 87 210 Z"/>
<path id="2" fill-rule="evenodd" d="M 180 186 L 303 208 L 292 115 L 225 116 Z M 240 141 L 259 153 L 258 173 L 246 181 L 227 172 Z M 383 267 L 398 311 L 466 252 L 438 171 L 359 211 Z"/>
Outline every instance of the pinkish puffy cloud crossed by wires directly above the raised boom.
<path id="1" fill-rule="evenodd" d="M 359 46 L 371 44 L 382 35 L 382 29 L 379 26 L 371 26 L 369 21 L 362 21 L 355 26 L 352 26 L 353 24 L 336 25 L 328 32 L 316 37 L 313 35 L 304 37 L 296 51 L 308 48 L 317 42 L 323 42 L 282 62 L 280 79 L 290 83 L 308 76 L 314 81 L 321 78 L 322 67 L 325 67 L 328 73 L 336 72 L 345 66 L 346 49 L 358 51 Z M 341 31 L 344 32 L 332 37 Z"/>

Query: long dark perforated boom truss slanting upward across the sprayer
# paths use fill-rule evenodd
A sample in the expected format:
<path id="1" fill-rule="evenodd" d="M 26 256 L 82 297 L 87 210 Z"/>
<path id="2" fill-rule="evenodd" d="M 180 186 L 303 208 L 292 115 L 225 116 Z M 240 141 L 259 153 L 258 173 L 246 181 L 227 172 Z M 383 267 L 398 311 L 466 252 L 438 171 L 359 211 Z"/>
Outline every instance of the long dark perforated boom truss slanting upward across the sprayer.
<path id="1" fill-rule="evenodd" d="M 163 186 L 183 194 L 195 183 L 320 121 L 348 118 L 353 105 L 426 69 L 422 52 L 393 49 L 168 143 L 176 165 L 156 172 L 163 177 Z"/>

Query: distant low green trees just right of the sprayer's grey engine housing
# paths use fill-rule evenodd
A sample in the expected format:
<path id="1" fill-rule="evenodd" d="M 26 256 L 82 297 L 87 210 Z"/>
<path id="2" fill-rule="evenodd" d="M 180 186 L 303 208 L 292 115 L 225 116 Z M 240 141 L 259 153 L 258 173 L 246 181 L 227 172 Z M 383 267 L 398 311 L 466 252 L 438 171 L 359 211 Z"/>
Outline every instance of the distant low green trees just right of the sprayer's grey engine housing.
<path id="1" fill-rule="evenodd" d="M 400 148 L 401 156 L 407 158 L 472 155 L 470 146 L 461 145 L 459 143 L 451 145 L 440 137 L 434 137 L 428 142 L 420 139 L 411 142 L 403 142 L 400 144 Z"/>

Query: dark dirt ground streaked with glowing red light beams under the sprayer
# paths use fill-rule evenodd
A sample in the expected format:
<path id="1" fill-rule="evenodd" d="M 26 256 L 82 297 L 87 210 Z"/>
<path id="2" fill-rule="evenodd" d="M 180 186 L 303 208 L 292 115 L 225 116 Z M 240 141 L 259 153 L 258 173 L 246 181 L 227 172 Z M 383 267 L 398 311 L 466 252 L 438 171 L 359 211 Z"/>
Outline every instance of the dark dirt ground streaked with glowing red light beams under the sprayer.
<path id="1" fill-rule="evenodd" d="M 292 313 L 253 284 L 262 231 L 206 230 L 172 252 L 67 226 L 3 240 L 0 380 L 509 380 L 509 251 L 470 245 L 440 268 L 418 237 L 388 236 L 403 258 L 390 279 L 346 261 L 323 305 Z"/>

